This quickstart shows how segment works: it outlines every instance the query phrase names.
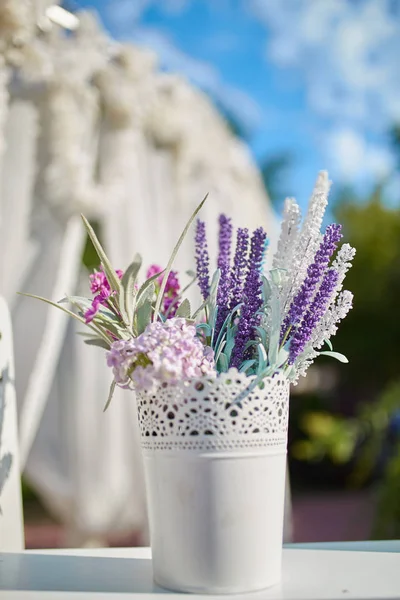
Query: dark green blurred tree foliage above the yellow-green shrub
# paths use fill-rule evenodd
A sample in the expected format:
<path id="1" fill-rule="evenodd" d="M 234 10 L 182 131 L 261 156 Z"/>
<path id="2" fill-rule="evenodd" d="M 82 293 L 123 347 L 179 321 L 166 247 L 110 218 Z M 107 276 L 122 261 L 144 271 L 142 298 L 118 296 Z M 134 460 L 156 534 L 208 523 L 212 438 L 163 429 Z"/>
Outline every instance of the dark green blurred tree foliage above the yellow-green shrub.
<path id="1" fill-rule="evenodd" d="M 334 213 L 357 248 L 346 278 L 354 310 L 335 339 L 350 360 L 341 369 L 341 387 L 356 401 L 374 399 L 399 374 L 400 210 L 385 206 L 378 187 L 364 202 L 342 194 Z"/>

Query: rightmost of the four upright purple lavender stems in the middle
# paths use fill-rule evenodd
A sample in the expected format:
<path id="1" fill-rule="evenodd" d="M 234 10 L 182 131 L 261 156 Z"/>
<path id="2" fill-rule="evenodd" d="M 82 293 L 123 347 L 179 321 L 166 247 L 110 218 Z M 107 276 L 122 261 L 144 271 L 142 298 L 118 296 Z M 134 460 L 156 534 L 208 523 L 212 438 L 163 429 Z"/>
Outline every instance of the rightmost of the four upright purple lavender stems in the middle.
<path id="1" fill-rule="evenodd" d="M 251 237 L 250 258 L 243 290 L 244 302 L 240 312 L 235 346 L 230 361 L 230 366 L 237 369 L 240 368 L 240 365 L 246 358 L 247 342 L 256 337 L 255 329 L 260 320 L 257 313 L 262 306 L 261 268 L 265 255 L 266 240 L 267 234 L 262 227 L 256 229 Z"/>

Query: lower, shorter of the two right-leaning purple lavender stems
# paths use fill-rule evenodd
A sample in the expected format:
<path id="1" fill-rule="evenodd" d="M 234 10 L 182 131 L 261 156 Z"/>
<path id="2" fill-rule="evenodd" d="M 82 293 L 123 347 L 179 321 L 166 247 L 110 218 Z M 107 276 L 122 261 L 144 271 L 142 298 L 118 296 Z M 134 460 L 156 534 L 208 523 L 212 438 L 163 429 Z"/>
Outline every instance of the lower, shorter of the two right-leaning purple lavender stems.
<path id="1" fill-rule="evenodd" d="M 314 300 L 310 304 L 300 326 L 296 329 L 295 334 L 290 340 L 288 361 L 290 365 L 292 365 L 299 354 L 303 352 L 315 327 L 323 317 L 335 290 L 338 278 L 339 273 L 335 269 L 329 269 L 326 272 Z"/>

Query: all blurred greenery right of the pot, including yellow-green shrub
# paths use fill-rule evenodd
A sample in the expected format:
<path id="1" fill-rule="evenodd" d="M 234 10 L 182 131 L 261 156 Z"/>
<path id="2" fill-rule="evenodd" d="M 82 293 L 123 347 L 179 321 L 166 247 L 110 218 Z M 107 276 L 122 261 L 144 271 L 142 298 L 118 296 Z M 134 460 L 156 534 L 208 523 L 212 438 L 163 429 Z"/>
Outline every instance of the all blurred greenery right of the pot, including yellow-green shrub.
<path id="1" fill-rule="evenodd" d="M 385 201 L 384 183 L 367 198 L 351 189 L 335 196 L 334 216 L 357 248 L 346 279 L 354 310 L 334 340 L 349 364 L 328 393 L 292 404 L 290 444 L 295 483 L 326 483 L 329 473 L 334 487 L 376 489 L 375 539 L 400 537 L 400 210 Z"/>

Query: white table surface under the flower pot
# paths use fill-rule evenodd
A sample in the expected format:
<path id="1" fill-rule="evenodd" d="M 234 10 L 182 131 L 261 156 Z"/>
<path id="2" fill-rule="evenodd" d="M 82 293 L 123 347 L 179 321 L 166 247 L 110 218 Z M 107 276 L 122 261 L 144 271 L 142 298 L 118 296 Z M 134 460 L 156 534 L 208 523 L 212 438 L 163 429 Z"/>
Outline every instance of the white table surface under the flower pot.
<path id="1" fill-rule="evenodd" d="M 157 587 L 149 548 L 0 553 L 0 600 L 151 600 L 161 594 L 171 600 L 221 598 L 177 594 Z M 399 599 L 400 554 L 284 549 L 279 586 L 231 597 Z"/>

